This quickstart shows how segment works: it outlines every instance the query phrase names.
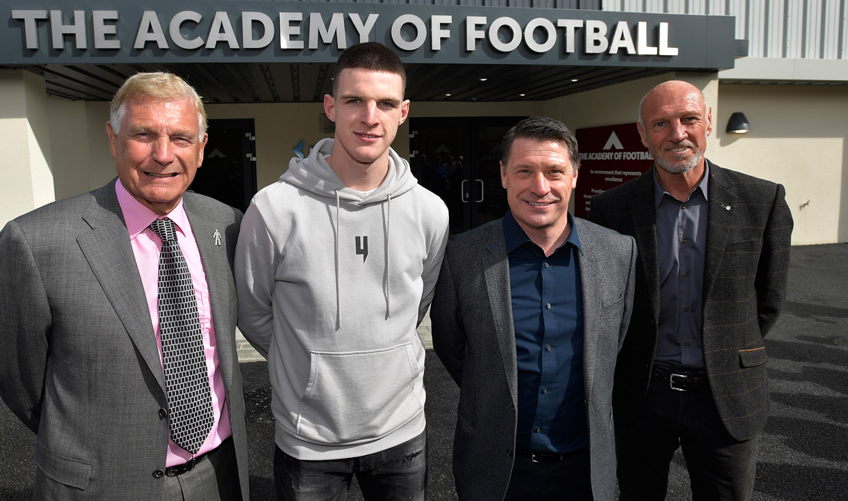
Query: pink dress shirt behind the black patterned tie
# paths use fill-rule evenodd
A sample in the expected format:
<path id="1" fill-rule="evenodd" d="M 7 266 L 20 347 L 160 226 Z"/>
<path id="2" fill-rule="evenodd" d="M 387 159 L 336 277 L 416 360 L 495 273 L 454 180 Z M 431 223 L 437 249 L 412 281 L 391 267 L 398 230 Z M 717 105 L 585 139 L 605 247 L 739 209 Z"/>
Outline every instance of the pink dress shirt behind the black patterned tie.
<path id="1" fill-rule="evenodd" d="M 120 183 L 120 179 L 115 183 L 114 189 L 118 194 L 120 211 L 124 213 L 126 228 L 130 232 L 132 253 L 136 256 L 138 273 L 142 276 L 144 295 L 147 296 L 150 320 L 153 322 L 153 335 L 156 336 L 156 346 L 159 347 L 159 363 L 162 363 L 162 338 L 159 335 L 159 252 L 162 250 L 162 240 L 148 228 L 150 223 L 159 216 L 133 198 Z M 204 336 L 206 369 L 209 372 L 209 386 L 212 388 L 212 411 L 215 414 L 215 423 L 206 441 L 198 450 L 197 455 L 200 455 L 218 447 L 227 437 L 232 436 L 232 428 L 226 405 L 224 380 L 220 374 L 218 352 L 215 349 L 215 328 L 212 325 L 209 288 L 206 284 L 203 262 L 200 261 L 198 243 L 194 239 L 192 226 L 188 222 L 182 201 L 173 211 L 170 211 L 167 217 L 176 225 L 176 239 L 180 244 L 182 255 L 186 258 L 188 271 L 192 274 L 194 296 L 197 297 L 200 327 Z M 168 440 L 165 466 L 183 464 L 192 457 L 192 453 Z"/>

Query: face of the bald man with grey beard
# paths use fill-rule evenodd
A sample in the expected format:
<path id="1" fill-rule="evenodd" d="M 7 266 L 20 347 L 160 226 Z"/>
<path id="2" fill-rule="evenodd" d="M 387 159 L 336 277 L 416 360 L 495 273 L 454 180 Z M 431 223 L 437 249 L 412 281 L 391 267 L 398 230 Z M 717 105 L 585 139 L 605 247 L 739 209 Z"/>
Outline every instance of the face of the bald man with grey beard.
<path id="1" fill-rule="evenodd" d="M 703 171 L 712 110 L 697 87 L 687 82 L 655 87 L 642 101 L 637 127 L 657 166 L 672 174 Z"/>

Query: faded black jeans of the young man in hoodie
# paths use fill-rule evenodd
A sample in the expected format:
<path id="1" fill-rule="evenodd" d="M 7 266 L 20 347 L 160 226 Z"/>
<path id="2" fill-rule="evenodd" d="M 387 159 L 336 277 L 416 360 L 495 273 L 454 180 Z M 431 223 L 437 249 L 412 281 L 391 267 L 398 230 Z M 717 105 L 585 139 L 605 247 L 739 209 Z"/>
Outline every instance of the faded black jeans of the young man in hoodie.
<path id="1" fill-rule="evenodd" d="M 423 501 L 427 485 L 427 433 L 379 453 L 351 459 L 305 461 L 276 448 L 278 501 L 343 501 L 354 474 L 366 501 Z"/>

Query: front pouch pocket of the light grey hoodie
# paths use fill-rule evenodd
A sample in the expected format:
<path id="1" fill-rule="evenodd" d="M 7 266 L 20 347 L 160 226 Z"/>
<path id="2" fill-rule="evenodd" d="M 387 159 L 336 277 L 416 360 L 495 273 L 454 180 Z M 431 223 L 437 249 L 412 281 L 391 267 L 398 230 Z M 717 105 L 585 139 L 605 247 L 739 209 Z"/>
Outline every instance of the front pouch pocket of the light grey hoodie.
<path id="1" fill-rule="evenodd" d="M 310 365 L 296 424 L 307 442 L 371 442 L 423 410 L 411 343 L 369 352 L 311 352 Z"/>

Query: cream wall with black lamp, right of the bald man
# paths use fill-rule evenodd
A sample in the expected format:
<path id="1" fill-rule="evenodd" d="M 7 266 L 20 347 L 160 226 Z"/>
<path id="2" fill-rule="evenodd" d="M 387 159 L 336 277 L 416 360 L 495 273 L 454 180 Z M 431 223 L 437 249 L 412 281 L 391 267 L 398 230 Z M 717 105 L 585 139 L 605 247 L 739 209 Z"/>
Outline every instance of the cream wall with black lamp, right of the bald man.
<path id="1" fill-rule="evenodd" d="M 848 241 L 848 87 L 719 89 L 716 163 L 784 185 L 795 219 L 794 245 Z M 724 132 L 734 111 L 748 118 L 747 134 Z"/>

